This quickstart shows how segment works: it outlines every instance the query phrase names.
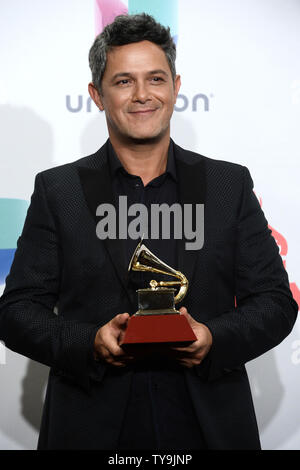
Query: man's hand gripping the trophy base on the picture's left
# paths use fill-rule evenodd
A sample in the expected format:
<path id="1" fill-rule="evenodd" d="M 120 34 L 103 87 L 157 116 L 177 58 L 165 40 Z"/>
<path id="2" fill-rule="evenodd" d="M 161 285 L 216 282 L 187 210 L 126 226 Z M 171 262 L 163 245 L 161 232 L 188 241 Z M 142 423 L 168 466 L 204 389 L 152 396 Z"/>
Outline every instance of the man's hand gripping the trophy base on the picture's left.
<path id="1" fill-rule="evenodd" d="M 129 316 L 129 313 L 120 313 L 99 328 L 94 342 L 95 359 L 103 359 L 108 364 L 117 367 L 124 367 L 132 361 L 133 357 L 127 355 L 119 346 Z"/>

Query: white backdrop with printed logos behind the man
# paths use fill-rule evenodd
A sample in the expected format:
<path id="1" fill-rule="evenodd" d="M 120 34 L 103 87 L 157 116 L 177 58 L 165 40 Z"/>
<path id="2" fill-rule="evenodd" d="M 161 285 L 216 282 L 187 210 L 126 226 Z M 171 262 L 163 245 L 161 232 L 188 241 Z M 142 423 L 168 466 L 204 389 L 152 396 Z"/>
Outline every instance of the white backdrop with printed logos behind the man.
<path id="1" fill-rule="evenodd" d="M 94 8 L 0 2 L 0 209 L 4 199 L 28 201 L 38 171 L 107 137 L 87 91 Z M 299 0 L 178 0 L 182 88 L 172 121 L 179 145 L 249 168 L 298 302 L 299 20 Z M 5 220 L 0 252 L 16 242 Z M 247 370 L 263 448 L 300 449 L 300 321 Z M 0 449 L 36 448 L 47 374 L 0 344 Z"/>

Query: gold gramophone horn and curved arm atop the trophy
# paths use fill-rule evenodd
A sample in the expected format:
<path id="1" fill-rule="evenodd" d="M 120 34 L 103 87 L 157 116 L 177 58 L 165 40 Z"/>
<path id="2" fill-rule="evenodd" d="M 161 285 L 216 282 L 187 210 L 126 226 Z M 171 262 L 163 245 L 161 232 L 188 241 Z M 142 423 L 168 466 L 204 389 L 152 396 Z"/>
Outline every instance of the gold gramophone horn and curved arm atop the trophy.
<path id="1" fill-rule="evenodd" d="M 179 291 L 174 298 L 175 304 L 181 302 L 187 293 L 189 282 L 185 275 L 180 271 L 176 271 L 176 269 L 172 268 L 171 266 L 168 266 L 157 256 L 155 256 L 149 250 L 149 248 L 143 244 L 143 240 L 139 242 L 136 249 L 134 250 L 128 266 L 128 271 L 148 271 L 153 273 L 166 274 L 168 276 L 173 276 L 179 279 L 179 281 L 150 281 L 150 286 L 153 290 L 157 289 L 158 287 L 179 285 Z"/>

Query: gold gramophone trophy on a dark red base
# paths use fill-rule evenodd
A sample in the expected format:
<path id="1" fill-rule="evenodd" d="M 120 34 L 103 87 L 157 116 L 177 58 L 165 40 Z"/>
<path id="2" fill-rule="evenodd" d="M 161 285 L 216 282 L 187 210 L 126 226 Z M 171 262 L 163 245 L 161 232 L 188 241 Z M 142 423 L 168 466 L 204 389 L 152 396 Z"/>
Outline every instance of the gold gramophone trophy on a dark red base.
<path id="1" fill-rule="evenodd" d="M 130 317 L 122 347 L 141 344 L 167 343 L 187 345 L 197 338 L 184 315 L 175 309 L 186 295 L 188 280 L 180 271 L 155 256 L 142 241 L 136 247 L 128 271 L 148 271 L 167 274 L 177 281 L 150 281 L 150 288 L 138 289 L 139 310 Z M 179 291 L 174 297 L 178 286 Z"/>

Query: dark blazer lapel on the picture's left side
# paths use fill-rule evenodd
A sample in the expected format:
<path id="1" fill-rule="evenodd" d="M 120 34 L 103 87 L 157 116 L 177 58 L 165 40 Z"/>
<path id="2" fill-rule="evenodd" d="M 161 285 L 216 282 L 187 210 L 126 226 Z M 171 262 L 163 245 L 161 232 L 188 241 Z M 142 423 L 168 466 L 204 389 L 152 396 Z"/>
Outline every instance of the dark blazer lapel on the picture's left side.
<path id="1" fill-rule="evenodd" d="M 104 147 L 102 147 L 102 149 Z M 115 206 L 110 170 L 107 161 L 107 153 L 104 152 L 102 155 L 100 154 L 99 159 L 101 159 L 101 163 L 99 163 L 98 168 L 90 168 L 84 166 L 79 166 L 77 168 L 85 200 L 90 209 L 91 215 L 95 220 L 95 231 L 96 224 L 99 222 L 99 217 L 96 216 L 96 210 L 99 204 L 109 203 Z M 101 241 L 99 239 L 99 243 L 100 242 L 103 243 L 105 248 L 107 249 L 111 262 L 113 263 L 116 273 L 120 279 L 120 282 L 128 293 L 128 272 L 127 266 L 125 266 L 124 261 L 125 258 L 122 246 L 123 241 L 119 240 L 118 238 L 107 238 Z M 128 297 L 130 299 L 129 294 Z"/>

